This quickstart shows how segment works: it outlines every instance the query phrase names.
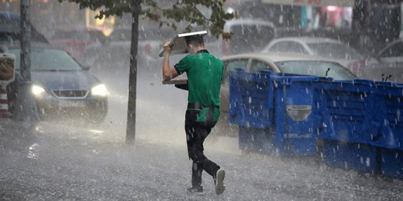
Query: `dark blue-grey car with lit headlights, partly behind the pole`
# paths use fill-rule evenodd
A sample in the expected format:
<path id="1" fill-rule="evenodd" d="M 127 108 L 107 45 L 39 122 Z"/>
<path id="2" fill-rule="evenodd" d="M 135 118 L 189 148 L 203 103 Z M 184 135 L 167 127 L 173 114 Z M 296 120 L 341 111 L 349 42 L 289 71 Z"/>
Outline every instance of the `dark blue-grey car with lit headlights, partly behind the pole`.
<path id="1" fill-rule="evenodd" d="M 15 111 L 18 82 L 21 80 L 20 46 L 7 45 L 7 53 L 15 55 L 16 80 L 8 85 L 10 112 Z M 89 74 L 89 67 L 81 66 L 66 51 L 43 43 L 32 43 L 32 93 L 41 119 L 85 117 L 100 123 L 108 110 L 106 86 Z"/>

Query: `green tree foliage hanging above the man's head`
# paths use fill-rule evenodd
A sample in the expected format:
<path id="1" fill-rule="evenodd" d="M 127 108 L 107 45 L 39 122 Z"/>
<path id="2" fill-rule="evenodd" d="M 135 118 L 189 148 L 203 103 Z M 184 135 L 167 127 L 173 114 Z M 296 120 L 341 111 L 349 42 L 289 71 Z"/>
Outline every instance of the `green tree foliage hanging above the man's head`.
<path id="1" fill-rule="evenodd" d="M 58 0 L 59 2 L 69 1 L 79 4 L 80 9 L 89 8 L 91 10 L 101 11 L 96 18 L 104 18 L 112 15 L 122 16 L 125 12 L 132 12 L 132 0 Z M 209 29 L 212 35 L 223 38 L 231 38 L 231 33 L 223 31 L 226 20 L 232 19 L 233 14 L 224 11 L 226 0 L 175 0 L 172 6 L 160 7 L 155 0 L 141 0 L 140 16 L 150 18 L 159 22 L 160 26 L 168 25 L 177 30 L 177 23 L 188 22 L 186 31 L 191 31 L 193 27 L 204 27 Z M 197 7 L 206 7 L 211 9 L 210 18 Z"/>

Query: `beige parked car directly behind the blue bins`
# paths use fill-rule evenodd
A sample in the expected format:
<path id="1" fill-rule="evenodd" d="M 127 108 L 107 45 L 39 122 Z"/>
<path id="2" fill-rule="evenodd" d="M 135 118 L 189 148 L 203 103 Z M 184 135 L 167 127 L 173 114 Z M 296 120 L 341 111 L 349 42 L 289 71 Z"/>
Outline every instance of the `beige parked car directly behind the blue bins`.
<path id="1" fill-rule="evenodd" d="M 329 76 L 335 80 L 352 80 L 356 78 L 341 64 L 318 56 L 297 53 L 255 53 L 239 54 L 223 57 L 224 77 L 220 90 L 220 120 L 217 123 L 218 133 L 234 135 L 237 128 L 228 124 L 229 112 L 229 73 L 235 68 L 245 68 L 247 72 L 271 70 L 287 74 Z"/>

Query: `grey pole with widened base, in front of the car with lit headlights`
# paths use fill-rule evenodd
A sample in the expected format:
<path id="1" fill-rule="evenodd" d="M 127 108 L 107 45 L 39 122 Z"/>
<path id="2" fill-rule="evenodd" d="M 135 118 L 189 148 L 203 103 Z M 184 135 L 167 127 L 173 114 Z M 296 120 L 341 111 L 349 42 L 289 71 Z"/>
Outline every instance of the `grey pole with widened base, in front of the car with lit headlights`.
<path id="1" fill-rule="evenodd" d="M 21 0 L 21 78 L 16 104 L 16 120 L 27 123 L 38 121 L 36 101 L 31 82 L 31 21 L 30 1 Z"/>

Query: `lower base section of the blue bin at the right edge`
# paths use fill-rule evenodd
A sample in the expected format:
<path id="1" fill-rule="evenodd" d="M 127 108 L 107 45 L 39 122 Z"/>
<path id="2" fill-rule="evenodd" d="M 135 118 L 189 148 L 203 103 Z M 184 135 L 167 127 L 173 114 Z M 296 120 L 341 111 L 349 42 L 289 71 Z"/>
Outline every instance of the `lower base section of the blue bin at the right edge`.
<path id="1" fill-rule="evenodd" d="M 381 149 L 382 174 L 391 178 L 403 179 L 403 150 Z"/>

